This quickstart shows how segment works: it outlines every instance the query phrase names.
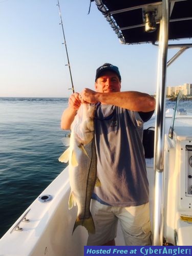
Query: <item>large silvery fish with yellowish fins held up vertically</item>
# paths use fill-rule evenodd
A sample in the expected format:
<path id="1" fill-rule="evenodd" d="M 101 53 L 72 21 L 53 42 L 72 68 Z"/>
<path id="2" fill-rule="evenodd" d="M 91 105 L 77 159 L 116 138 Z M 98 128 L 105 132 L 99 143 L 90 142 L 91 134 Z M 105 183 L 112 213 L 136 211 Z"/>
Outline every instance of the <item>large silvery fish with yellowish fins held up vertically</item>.
<path id="1" fill-rule="evenodd" d="M 91 196 L 95 186 L 100 186 L 97 178 L 97 156 L 94 136 L 94 115 L 96 105 L 81 103 L 71 124 L 69 148 L 59 157 L 60 162 L 69 161 L 71 193 L 69 209 L 77 205 L 77 226 L 84 226 L 95 233 L 95 225 L 90 211 Z M 72 232 L 72 234 L 73 234 Z"/>

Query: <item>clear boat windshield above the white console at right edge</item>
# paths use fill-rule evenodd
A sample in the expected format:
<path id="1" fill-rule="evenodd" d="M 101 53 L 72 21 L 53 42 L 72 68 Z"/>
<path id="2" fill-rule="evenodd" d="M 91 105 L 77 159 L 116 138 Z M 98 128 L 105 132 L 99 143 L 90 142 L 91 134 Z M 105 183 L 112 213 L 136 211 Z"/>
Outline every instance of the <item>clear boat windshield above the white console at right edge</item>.
<path id="1" fill-rule="evenodd" d="M 186 95 L 186 92 L 181 90 L 176 97 L 175 110 L 168 132 L 169 138 L 173 139 L 174 127 L 183 125 L 181 119 L 187 117 L 192 117 L 192 87 L 189 89 L 189 94 Z M 186 122 L 187 126 L 192 126 L 192 119 L 188 122 Z"/>

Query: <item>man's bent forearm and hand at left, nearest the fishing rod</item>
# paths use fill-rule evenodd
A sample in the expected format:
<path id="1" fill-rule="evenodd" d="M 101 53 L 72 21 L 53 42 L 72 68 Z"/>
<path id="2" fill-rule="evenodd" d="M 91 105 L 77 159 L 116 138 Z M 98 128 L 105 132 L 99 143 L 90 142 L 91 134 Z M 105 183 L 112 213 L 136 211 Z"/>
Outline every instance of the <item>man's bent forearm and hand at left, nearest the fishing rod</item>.
<path id="1" fill-rule="evenodd" d="M 79 93 L 72 94 L 69 98 L 68 108 L 65 111 L 63 111 L 61 116 L 61 129 L 71 129 L 71 124 L 77 114 L 77 110 L 79 109 L 80 104 L 81 101 L 79 99 Z"/>

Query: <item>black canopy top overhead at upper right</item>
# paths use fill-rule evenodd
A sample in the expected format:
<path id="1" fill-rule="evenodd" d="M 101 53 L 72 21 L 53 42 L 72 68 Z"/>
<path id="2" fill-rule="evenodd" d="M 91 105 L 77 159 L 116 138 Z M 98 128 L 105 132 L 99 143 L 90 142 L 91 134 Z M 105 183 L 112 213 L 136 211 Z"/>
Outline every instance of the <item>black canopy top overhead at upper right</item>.
<path id="1" fill-rule="evenodd" d="M 124 44 L 158 41 L 162 0 L 95 0 Z M 170 0 L 169 39 L 192 37 L 192 0 Z M 156 30 L 145 32 L 145 13 L 155 15 Z"/>

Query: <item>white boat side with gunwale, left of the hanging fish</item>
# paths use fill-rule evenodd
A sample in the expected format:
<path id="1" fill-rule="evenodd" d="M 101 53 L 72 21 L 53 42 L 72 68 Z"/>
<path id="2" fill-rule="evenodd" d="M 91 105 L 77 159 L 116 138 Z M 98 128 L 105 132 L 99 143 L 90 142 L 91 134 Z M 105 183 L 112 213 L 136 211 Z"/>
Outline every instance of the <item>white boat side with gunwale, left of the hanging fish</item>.
<path id="1" fill-rule="evenodd" d="M 1 255 L 83 255 L 83 246 L 77 245 L 86 245 L 88 233 L 78 227 L 72 236 L 77 208 L 68 209 L 69 194 L 67 167 L 40 195 L 53 199 L 41 203 L 37 198 L 26 210 L 30 209 L 26 216 L 29 222 L 19 224 L 23 230 L 13 230 L 21 216 L 7 231 L 1 239 Z"/>

